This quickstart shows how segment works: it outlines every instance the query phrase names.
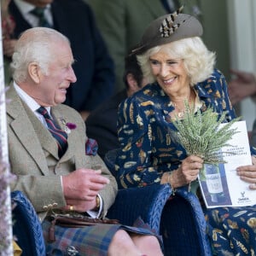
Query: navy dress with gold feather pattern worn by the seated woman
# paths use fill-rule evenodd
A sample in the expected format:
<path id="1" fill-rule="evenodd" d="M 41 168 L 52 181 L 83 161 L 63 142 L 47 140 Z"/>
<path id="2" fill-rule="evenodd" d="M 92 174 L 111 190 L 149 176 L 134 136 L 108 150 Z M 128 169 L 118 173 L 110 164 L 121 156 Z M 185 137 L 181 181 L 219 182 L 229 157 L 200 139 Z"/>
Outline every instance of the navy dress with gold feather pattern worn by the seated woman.
<path id="1" fill-rule="evenodd" d="M 236 118 L 226 80 L 218 70 L 194 89 L 201 102 L 200 111 L 211 107 L 219 117 L 225 112 L 225 122 Z M 174 137 L 176 129 L 169 114 L 173 110 L 170 98 L 156 83 L 148 84 L 120 104 L 118 134 L 122 150 L 115 161 L 119 188 L 160 183 L 164 172 L 176 170 L 187 157 Z M 252 154 L 256 154 L 253 148 Z M 255 207 L 214 208 L 205 212 L 215 253 L 255 255 Z"/>

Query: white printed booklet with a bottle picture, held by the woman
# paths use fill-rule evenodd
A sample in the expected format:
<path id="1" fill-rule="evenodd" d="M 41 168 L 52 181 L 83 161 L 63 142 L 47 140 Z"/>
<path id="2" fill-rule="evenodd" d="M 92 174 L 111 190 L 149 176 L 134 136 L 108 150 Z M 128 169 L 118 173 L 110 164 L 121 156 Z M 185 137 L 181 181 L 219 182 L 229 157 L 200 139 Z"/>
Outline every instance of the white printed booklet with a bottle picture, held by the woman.
<path id="1" fill-rule="evenodd" d="M 245 121 L 238 121 L 231 127 L 237 132 L 228 142 L 230 146 L 220 150 L 226 163 L 204 166 L 198 180 L 201 194 L 207 208 L 245 207 L 256 204 L 255 190 L 248 188 L 249 183 L 236 174 L 238 166 L 252 165 L 250 146 Z"/>

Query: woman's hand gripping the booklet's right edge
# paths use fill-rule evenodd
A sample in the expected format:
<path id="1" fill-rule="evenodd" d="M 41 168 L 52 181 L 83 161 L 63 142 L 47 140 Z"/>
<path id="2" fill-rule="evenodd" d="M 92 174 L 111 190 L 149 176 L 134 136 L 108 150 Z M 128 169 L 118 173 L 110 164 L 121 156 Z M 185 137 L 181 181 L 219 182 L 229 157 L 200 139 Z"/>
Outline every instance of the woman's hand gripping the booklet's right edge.
<path id="1" fill-rule="evenodd" d="M 252 157 L 252 166 L 239 166 L 236 168 L 237 175 L 241 180 L 244 180 L 249 184 L 249 189 L 256 189 L 256 158 Z"/>

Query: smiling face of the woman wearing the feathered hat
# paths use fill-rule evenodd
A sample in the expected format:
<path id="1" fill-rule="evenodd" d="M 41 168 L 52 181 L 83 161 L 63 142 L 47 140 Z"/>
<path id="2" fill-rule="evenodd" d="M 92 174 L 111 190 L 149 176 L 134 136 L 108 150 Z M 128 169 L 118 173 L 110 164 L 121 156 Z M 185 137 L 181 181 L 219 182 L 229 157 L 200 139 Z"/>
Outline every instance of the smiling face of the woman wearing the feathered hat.
<path id="1" fill-rule="evenodd" d="M 151 71 L 168 96 L 182 96 L 189 89 L 189 76 L 185 71 L 183 60 L 174 59 L 165 51 L 151 55 Z"/>

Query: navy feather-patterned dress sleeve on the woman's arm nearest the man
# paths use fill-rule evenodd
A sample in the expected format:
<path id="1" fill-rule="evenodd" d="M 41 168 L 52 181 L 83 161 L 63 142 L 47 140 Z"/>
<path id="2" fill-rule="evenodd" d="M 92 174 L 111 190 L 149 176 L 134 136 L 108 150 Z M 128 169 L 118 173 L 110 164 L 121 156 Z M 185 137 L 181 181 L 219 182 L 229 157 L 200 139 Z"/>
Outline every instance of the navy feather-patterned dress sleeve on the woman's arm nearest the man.
<path id="1" fill-rule="evenodd" d="M 119 105 L 118 135 L 121 150 L 116 159 L 119 188 L 143 187 L 159 183 L 161 174 L 152 166 L 152 133 L 150 111 L 136 98 Z"/>

